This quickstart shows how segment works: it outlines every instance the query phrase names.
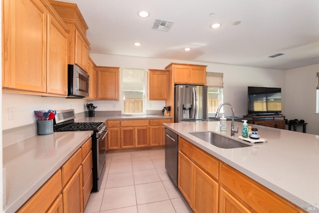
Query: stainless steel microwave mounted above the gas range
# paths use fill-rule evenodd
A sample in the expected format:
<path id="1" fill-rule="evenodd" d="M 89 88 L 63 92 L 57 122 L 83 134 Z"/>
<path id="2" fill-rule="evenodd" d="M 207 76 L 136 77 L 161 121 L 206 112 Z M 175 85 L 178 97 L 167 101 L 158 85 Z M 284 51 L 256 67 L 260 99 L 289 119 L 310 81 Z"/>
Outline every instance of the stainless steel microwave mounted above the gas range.
<path id="1" fill-rule="evenodd" d="M 84 98 L 89 96 L 90 76 L 76 64 L 68 64 L 68 97 Z"/>

